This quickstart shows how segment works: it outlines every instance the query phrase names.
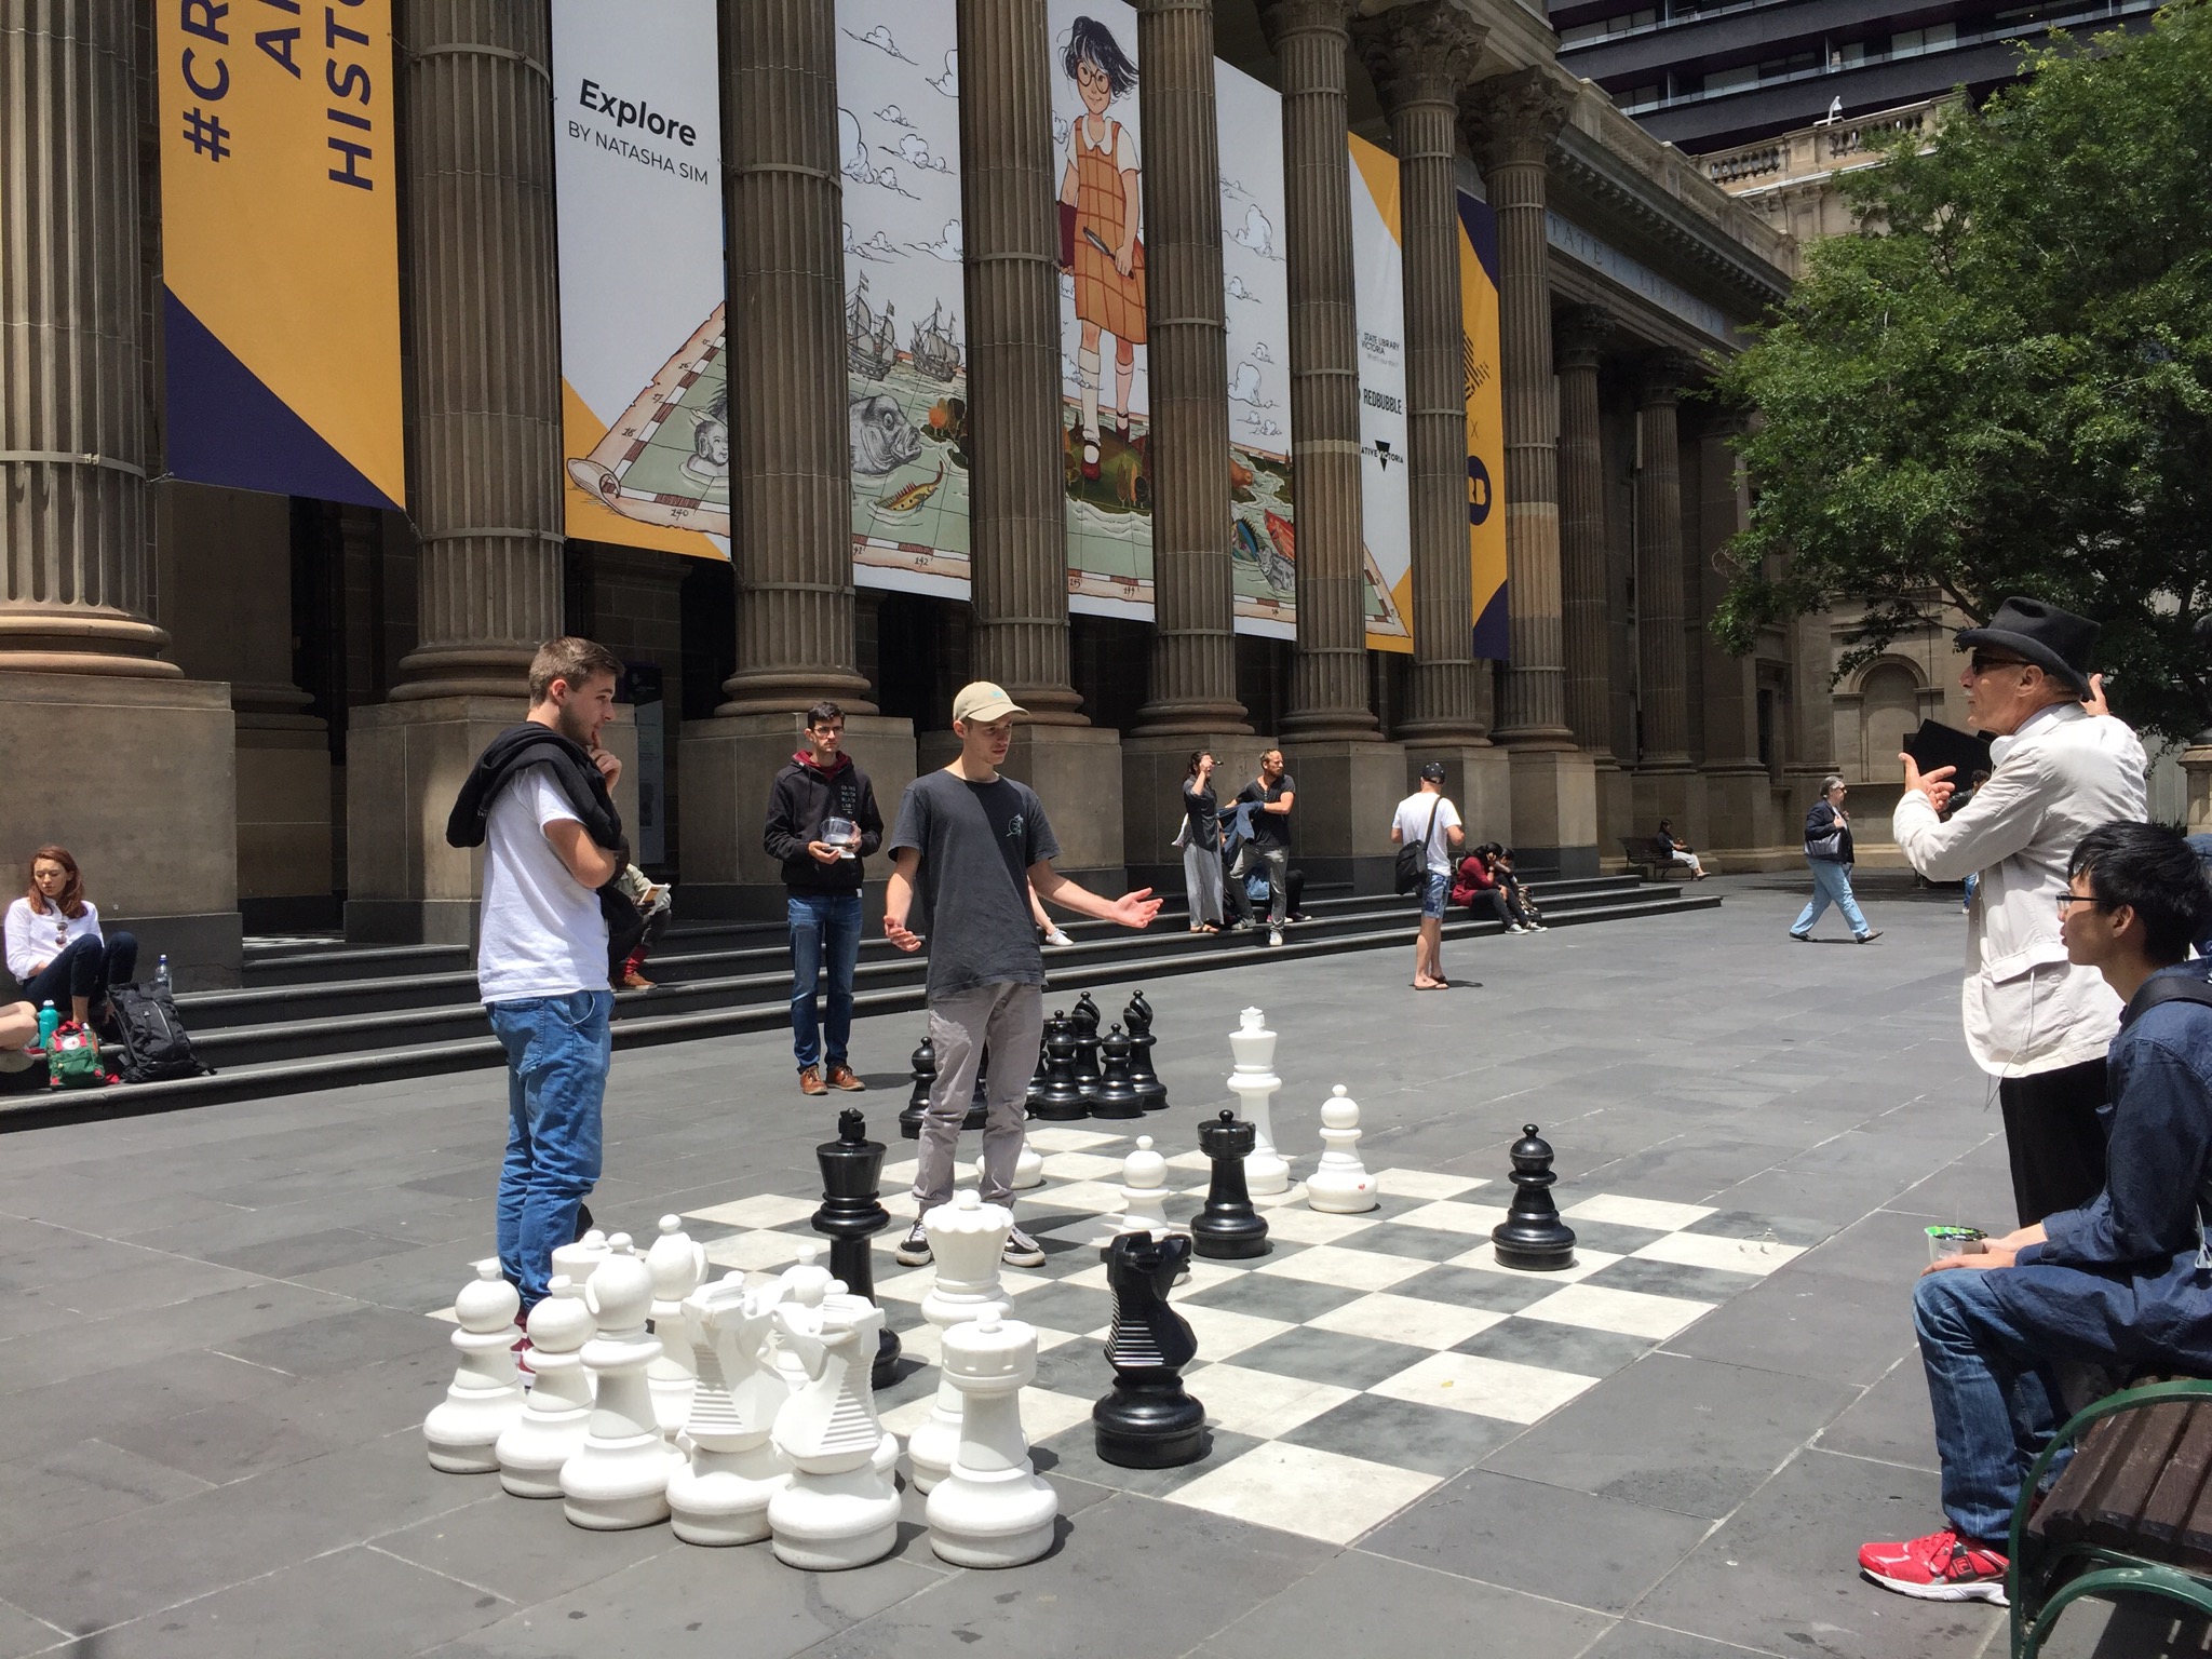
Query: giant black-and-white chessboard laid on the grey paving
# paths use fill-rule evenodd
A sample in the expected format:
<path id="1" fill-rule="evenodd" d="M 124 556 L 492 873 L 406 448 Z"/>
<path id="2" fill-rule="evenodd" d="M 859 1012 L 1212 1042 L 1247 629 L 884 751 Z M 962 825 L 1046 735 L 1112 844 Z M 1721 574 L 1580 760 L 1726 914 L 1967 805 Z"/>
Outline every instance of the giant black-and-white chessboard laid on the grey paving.
<path id="1" fill-rule="evenodd" d="M 1511 1197 L 1504 1181 L 1383 1166 L 1380 1208 L 1318 1214 L 1294 1179 L 1287 1192 L 1254 1199 L 1270 1254 L 1194 1259 L 1172 1296 L 1199 1338 L 1183 1376 L 1206 1405 L 1212 1449 L 1181 1469 L 1119 1469 L 1093 1449 L 1091 1407 L 1113 1383 L 1099 1245 L 1115 1230 L 1133 1137 L 1031 1124 L 1029 1139 L 1046 1181 L 1018 1192 L 1013 1212 L 1044 1245 L 1046 1265 L 1009 1267 L 1002 1279 L 1013 1316 L 1037 1327 L 1037 1380 L 1022 1391 L 1037 1469 L 1332 1544 L 1358 1540 L 1827 1234 L 1816 1223 L 1562 1188 L 1579 1239 L 1575 1265 L 1537 1274 L 1500 1267 L 1491 1254 L 1489 1232 Z M 978 1141 L 962 1137 L 962 1175 Z M 1161 1150 L 1172 1150 L 1166 1137 Z M 1294 1177 L 1312 1164 L 1314 1155 L 1292 1159 Z M 1186 1223 L 1208 1161 L 1186 1150 L 1168 1166 L 1168 1219 Z M 905 1347 L 898 1383 L 876 1402 L 900 1436 L 929 1416 L 938 1383 L 938 1332 L 920 1314 L 936 1270 L 902 1267 L 891 1254 L 914 1219 L 911 1181 L 911 1159 L 883 1170 L 896 1221 L 874 1239 L 876 1301 Z M 827 1245 L 807 1225 L 818 1206 L 765 1192 L 690 1210 L 686 1230 L 721 1270 L 774 1274 L 801 1245 Z M 602 1217 L 608 1230 L 622 1221 Z M 650 1239 L 650 1217 L 626 1221 Z"/>

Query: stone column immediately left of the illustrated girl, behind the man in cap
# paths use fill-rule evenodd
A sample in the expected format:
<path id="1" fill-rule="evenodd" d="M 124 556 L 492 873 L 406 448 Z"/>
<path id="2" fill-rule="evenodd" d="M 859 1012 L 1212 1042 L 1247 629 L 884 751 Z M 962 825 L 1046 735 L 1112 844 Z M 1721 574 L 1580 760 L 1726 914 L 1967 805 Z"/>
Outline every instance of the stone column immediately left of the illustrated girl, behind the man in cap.
<path id="1" fill-rule="evenodd" d="M 1044 0 L 960 0 L 958 40 L 975 677 L 1029 710 L 1006 770 L 1044 796 L 1060 867 L 1115 887 L 1119 737 L 1084 719 L 1068 679 L 1053 29 Z M 922 748 L 925 765 L 947 752 Z"/>

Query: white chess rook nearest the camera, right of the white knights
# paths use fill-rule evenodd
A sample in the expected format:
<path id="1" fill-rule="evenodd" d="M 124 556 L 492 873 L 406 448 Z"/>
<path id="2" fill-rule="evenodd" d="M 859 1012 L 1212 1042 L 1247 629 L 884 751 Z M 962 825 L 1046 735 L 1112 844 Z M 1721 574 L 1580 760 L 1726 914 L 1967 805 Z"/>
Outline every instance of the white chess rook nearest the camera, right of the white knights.
<path id="1" fill-rule="evenodd" d="M 1037 1329 L 998 1310 L 945 1332 L 945 1376 L 960 1389 L 960 1449 L 929 1493 L 929 1548 L 956 1566 L 1022 1566 L 1053 1546 L 1060 1493 L 1022 1433 L 1022 1387 L 1037 1374 Z"/>

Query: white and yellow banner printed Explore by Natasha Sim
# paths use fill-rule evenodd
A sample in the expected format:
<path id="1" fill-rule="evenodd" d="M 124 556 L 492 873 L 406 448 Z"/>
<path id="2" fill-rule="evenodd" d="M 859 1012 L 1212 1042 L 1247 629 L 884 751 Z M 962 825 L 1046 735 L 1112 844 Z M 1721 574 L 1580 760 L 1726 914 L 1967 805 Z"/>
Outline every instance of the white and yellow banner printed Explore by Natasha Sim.
<path id="1" fill-rule="evenodd" d="M 730 557 L 714 0 L 553 0 L 566 531 Z"/>

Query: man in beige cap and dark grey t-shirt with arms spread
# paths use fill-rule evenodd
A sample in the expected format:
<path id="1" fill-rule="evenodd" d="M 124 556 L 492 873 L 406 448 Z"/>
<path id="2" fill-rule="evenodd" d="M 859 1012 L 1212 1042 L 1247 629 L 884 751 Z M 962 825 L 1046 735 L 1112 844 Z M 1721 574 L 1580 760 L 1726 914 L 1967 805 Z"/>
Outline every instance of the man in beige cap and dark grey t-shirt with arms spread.
<path id="1" fill-rule="evenodd" d="M 1159 900 L 1146 887 L 1099 898 L 1053 869 L 1060 843 L 1044 803 L 1026 783 L 1000 776 L 1022 710 L 989 681 L 953 697 L 960 759 L 907 785 L 891 830 L 891 885 L 883 902 L 883 936 L 902 951 L 922 940 L 907 929 L 914 887 L 929 905 L 929 1042 L 938 1075 L 929 1086 L 920 1159 L 914 1170 L 916 1221 L 898 1245 L 909 1267 L 929 1261 L 920 1217 L 953 1194 L 953 1148 L 975 1093 L 975 1066 L 991 1051 L 989 1119 L 982 1130 L 982 1199 L 1013 1203 L 1013 1164 L 1022 1155 L 1029 1077 L 1044 1033 L 1044 953 L 1029 914 L 1037 898 L 1082 916 L 1146 927 Z M 1015 1228 L 1006 1265 L 1042 1267 L 1037 1241 Z"/>

